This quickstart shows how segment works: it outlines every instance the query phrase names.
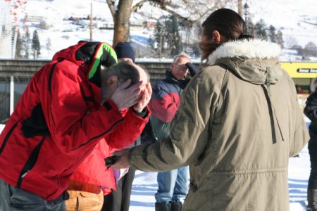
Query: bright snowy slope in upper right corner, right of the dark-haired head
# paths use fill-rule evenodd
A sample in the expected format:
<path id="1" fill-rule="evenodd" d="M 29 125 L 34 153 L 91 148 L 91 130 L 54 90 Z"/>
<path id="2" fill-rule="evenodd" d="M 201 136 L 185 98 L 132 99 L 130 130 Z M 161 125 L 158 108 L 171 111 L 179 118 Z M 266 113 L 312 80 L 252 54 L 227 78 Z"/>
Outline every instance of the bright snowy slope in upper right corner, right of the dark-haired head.
<path id="1" fill-rule="evenodd" d="M 247 4 L 253 22 L 262 18 L 267 25 L 282 28 L 284 41 L 294 37 L 303 47 L 309 41 L 317 45 L 317 1 L 255 0 L 247 1 Z"/>

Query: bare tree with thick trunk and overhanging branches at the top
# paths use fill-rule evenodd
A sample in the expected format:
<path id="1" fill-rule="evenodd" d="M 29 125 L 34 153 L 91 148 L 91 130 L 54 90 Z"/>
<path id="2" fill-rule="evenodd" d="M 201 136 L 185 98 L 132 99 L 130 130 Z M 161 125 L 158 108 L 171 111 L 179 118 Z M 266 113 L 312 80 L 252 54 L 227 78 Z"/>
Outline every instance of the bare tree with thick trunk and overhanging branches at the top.
<path id="1" fill-rule="evenodd" d="M 106 0 L 113 17 L 113 46 L 119 41 L 128 41 L 130 32 L 130 16 L 138 8 L 150 4 L 175 15 L 181 20 L 196 23 L 205 18 L 211 11 L 232 4 L 236 0 Z"/>

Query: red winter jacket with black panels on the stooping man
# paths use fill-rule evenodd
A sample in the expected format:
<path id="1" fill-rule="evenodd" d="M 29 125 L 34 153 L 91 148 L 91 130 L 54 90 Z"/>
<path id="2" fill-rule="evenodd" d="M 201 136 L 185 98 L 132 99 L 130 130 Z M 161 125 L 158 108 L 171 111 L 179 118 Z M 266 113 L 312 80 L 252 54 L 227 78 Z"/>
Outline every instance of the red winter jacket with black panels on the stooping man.
<path id="1" fill-rule="evenodd" d="M 99 63 L 116 63 L 110 49 L 71 46 L 32 77 L 0 135 L 0 179 L 54 200 L 101 138 L 118 148 L 135 141 L 148 117 L 100 105 Z"/>

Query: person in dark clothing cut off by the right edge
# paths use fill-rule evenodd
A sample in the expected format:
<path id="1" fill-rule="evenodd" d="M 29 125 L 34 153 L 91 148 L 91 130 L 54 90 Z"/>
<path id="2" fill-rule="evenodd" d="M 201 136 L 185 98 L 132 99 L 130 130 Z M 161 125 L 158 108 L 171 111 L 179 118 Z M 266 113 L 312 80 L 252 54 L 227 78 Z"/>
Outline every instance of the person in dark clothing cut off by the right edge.
<path id="1" fill-rule="evenodd" d="M 309 157 L 311 158 L 311 174 L 307 189 L 307 210 L 317 211 L 317 77 L 311 83 L 311 95 L 307 98 L 304 113 L 311 124 L 309 124 Z"/>

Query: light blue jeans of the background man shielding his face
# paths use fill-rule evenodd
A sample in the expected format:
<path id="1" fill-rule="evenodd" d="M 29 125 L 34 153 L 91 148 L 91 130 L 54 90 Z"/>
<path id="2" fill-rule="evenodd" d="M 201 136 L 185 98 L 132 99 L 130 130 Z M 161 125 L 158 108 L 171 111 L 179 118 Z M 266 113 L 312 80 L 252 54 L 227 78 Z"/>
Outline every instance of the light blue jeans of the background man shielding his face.
<path id="1" fill-rule="evenodd" d="M 158 172 L 159 189 L 155 194 L 156 203 L 169 203 L 171 200 L 180 201 L 188 191 L 188 166 L 169 172 Z"/>

